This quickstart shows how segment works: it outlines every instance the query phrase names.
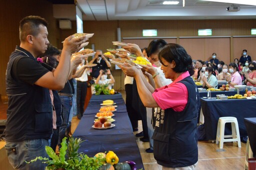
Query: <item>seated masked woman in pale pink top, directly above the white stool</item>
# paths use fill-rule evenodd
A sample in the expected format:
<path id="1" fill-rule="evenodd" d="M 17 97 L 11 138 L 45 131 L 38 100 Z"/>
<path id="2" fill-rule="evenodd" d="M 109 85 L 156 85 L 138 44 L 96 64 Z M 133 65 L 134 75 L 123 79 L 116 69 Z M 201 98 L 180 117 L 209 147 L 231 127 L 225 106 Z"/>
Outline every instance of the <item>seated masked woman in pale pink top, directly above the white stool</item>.
<path id="1" fill-rule="evenodd" d="M 231 78 L 227 79 L 227 82 L 230 87 L 234 87 L 235 85 L 242 85 L 242 79 L 240 74 L 238 73 L 238 67 L 235 63 L 230 63 L 228 65 L 229 73 L 231 74 Z"/>

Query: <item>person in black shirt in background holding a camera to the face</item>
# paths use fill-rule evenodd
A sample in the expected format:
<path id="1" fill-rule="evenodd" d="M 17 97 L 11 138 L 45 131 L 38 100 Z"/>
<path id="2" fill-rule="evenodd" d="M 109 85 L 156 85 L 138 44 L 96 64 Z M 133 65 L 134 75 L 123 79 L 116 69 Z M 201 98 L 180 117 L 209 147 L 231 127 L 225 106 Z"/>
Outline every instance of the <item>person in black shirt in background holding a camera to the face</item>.
<path id="1" fill-rule="evenodd" d="M 99 70 L 106 70 L 111 67 L 111 64 L 107 61 L 101 50 L 96 50 L 95 56 L 89 63 L 97 64 L 92 67 L 91 77 L 93 79 L 97 79 Z"/>

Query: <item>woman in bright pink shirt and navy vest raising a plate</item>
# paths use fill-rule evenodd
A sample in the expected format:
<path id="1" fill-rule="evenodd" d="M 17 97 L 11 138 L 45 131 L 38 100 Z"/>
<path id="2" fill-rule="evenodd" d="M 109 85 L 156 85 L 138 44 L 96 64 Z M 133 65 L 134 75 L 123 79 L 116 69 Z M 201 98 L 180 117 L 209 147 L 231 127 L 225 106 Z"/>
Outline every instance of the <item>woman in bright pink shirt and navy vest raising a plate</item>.
<path id="1" fill-rule="evenodd" d="M 178 44 L 167 44 L 159 53 L 161 70 L 173 82 L 154 89 L 142 71 L 125 63 L 122 71 L 136 80 L 145 107 L 157 107 L 152 115 L 153 154 L 162 170 L 194 170 L 198 160 L 196 124 L 199 93 L 188 71 L 192 59 Z M 155 75 L 159 76 L 159 75 Z"/>

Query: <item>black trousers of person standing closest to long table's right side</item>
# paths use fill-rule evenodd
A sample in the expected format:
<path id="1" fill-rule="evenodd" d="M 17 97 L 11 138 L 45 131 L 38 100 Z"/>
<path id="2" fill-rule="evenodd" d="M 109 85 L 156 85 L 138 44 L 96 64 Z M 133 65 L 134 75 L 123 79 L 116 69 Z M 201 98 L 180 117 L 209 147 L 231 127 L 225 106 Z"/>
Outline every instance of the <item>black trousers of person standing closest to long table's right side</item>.
<path id="1" fill-rule="evenodd" d="M 132 108 L 132 84 L 125 84 L 125 105 L 126 110 L 130 119 L 130 123 L 132 126 L 132 129 L 138 128 L 138 119 L 136 115 L 136 111 Z"/>

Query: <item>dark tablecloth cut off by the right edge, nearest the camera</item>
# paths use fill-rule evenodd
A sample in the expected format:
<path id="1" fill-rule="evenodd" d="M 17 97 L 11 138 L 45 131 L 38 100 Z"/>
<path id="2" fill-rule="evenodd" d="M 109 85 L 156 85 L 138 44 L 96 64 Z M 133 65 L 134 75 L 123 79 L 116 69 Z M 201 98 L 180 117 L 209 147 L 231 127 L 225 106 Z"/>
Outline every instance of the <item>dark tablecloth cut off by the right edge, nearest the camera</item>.
<path id="1" fill-rule="evenodd" d="M 244 118 L 253 157 L 256 158 L 256 118 Z"/>

